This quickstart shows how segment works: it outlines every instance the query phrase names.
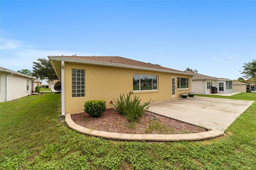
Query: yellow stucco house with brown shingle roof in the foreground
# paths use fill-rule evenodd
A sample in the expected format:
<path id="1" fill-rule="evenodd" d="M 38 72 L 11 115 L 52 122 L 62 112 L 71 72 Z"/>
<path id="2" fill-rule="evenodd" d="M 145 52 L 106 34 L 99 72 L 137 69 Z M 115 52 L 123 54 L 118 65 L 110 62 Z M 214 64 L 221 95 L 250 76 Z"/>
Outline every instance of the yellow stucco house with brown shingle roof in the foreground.
<path id="1" fill-rule="evenodd" d="M 141 102 L 180 97 L 191 92 L 194 73 L 124 57 L 48 56 L 62 82 L 62 115 L 84 112 L 84 102 L 104 100 L 113 107 L 120 94 Z"/>

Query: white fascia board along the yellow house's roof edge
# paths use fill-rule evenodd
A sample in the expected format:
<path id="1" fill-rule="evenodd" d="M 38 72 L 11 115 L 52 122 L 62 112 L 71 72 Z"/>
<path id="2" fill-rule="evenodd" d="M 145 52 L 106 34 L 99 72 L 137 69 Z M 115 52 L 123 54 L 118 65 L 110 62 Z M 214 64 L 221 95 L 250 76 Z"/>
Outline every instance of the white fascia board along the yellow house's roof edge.
<path id="1" fill-rule="evenodd" d="M 163 69 L 153 69 L 153 68 L 140 67 L 140 66 L 134 66 L 134 65 L 105 63 L 105 62 L 100 62 L 100 61 L 89 61 L 89 60 L 82 60 L 82 59 L 70 59 L 70 58 L 52 57 L 52 56 L 48 56 L 48 58 L 50 60 L 66 61 L 66 62 L 70 62 L 70 63 L 84 63 L 84 64 L 100 65 L 100 66 L 106 66 L 106 67 L 121 67 L 121 68 L 127 68 L 127 69 L 140 69 L 140 70 L 156 71 L 156 72 L 164 72 L 164 73 L 194 75 L 192 73 L 183 73 L 183 72 L 179 72 L 179 71 L 168 71 L 168 70 L 163 70 Z"/>

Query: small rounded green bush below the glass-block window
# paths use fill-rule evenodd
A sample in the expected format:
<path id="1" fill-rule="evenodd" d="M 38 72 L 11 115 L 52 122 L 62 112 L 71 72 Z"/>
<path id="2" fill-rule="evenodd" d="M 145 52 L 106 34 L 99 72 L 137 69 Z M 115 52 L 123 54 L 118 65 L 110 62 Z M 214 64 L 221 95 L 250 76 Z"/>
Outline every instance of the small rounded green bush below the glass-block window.
<path id="1" fill-rule="evenodd" d="M 84 111 L 92 117 L 100 117 L 106 111 L 106 101 L 104 100 L 90 100 L 84 104 Z"/>

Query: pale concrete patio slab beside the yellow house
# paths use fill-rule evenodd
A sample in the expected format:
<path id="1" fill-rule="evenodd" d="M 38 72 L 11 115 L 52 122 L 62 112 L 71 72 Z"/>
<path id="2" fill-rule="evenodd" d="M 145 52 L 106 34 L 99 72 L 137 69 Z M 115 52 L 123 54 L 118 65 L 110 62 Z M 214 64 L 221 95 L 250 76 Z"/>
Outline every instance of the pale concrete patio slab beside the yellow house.
<path id="1" fill-rule="evenodd" d="M 253 102 L 194 96 L 153 101 L 148 111 L 224 132 Z"/>

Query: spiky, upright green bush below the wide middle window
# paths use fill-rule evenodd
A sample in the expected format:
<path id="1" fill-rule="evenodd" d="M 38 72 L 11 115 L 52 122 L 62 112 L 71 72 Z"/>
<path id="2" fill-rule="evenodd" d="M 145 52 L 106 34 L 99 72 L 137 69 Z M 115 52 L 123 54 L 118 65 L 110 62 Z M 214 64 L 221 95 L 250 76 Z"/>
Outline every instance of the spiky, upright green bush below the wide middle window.
<path id="1" fill-rule="evenodd" d="M 123 95 L 120 94 L 120 100 L 116 99 L 114 100 L 115 104 L 114 107 L 116 107 L 117 111 L 120 113 L 120 115 L 124 115 L 124 117 L 128 121 L 136 121 L 139 120 L 140 117 L 145 113 L 146 110 L 149 108 L 150 101 L 140 104 L 139 97 L 134 96 L 134 99 L 130 99 L 130 94 L 126 95 L 126 98 Z M 151 100 L 151 99 L 150 99 Z"/>

